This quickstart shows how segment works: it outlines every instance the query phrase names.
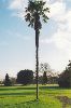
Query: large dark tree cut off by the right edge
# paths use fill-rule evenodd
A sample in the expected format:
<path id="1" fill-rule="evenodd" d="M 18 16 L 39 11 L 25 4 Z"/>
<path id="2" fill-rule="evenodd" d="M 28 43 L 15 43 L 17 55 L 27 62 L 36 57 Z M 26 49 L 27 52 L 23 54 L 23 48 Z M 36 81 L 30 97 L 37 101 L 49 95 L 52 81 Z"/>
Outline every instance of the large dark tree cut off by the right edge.
<path id="1" fill-rule="evenodd" d="M 60 87 L 71 87 L 71 60 L 66 70 L 59 75 L 58 84 Z"/>

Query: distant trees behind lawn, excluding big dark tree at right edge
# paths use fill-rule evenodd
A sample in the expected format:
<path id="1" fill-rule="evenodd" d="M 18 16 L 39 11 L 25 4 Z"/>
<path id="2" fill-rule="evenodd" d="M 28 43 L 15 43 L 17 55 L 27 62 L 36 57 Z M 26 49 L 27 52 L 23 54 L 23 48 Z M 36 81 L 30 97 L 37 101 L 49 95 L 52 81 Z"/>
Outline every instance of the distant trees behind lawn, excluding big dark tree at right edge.
<path id="1" fill-rule="evenodd" d="M 4 85 L 15 84 L 36 84 L 36 72 L 29 69 L 20 70 L 17 72 L 17 78 L 10 78 L 9 73 L 5 75 L 5 79 L 1 82 Z M 57 83 L 57 76 L 52 72 L 51 66 L 47 63 L 40 64 L 39 70 L 39 84 Z"/>

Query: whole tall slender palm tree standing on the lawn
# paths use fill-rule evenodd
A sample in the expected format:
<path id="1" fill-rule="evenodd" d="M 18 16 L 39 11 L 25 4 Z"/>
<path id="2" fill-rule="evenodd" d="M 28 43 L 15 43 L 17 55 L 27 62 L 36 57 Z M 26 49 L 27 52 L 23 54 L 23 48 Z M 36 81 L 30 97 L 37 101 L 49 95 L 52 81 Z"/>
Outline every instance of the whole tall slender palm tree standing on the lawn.
<path id="1" fill-rule="evenodd" d="M 37 73 L 37 99 L 39 99 L 39 35 L 42 28 L 41 21 L 47 22 L 48 17 L 45 12 L 49 12 L 48 8 L 44 8 L 46 2 L 42 0 L 29 0 L 26 8 L 25 19 L 36 30 L 36 73 Z"/>

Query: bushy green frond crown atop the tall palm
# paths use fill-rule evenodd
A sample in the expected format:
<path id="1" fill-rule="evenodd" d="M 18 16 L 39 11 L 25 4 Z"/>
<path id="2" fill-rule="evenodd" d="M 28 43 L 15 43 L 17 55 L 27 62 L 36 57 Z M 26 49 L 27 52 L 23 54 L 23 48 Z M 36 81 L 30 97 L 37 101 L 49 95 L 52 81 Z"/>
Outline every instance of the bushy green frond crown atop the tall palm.
<path id="1" fill-rule="evenodd" d="M 26 8 L 26 22 L 29 22 L 28 26 L 33 27 L 34 29 L 41 29 L 41 17 L 44 23 L 47 22 L 48 17 L 45 15 L 45 12 L 49 12 L 48 8 L 44 9 L 46 2 L 43 2 L 42 0 L 29 0 L 28 8 Z"/>

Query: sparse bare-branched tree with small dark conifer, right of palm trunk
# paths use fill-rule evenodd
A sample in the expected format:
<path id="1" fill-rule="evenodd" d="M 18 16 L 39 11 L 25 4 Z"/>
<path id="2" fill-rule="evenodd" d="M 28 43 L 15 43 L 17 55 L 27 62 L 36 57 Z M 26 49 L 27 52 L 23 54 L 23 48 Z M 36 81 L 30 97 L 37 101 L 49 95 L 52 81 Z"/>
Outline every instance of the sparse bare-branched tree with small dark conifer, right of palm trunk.
<path id="1" fill-rule="evenodd" d="M 55 73 L 53 69 L 51 69 L 51 66 L 47 63 L 40 64 L 40 72 L 43 73 L 41 80 L 42 84 L 52 84 L 58 82 L 58 76 Z"/>

